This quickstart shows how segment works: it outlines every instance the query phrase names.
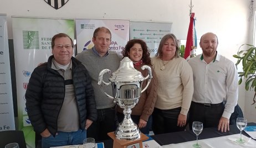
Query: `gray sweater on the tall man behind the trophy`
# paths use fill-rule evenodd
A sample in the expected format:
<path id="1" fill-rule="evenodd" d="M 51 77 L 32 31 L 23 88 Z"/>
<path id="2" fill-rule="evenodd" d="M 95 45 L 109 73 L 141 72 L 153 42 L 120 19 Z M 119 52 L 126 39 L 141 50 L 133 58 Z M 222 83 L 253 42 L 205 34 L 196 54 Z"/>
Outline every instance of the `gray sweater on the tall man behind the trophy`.
<path id="1" fill-rule="evenodd" d="M 91 76 L 91 84 L 93 86 L 94 93 L 95 93 L 95 101 L 96 101 L 97 109 L 114 107 L 115 104 L 113 100 L 106 97 L 104 92 L 100 89 L 100 86 L 98 85 L 98 81 L 99 81 L 99 73 L 101 70 L 109 69 L 111 70 L 111 73 L 117 70 L 121 60 L 120 56 L 117 55 L 115 51 L 109 50 L 109 55 L 105 57 L 99 57 L 94 54 L 92 49 L 87 49 L 85 51 L 82 51 L 80 54 L 76 55 L 75 58 L 82 62 L 82 64 L 88 70 L 89 75 Z M 109 75 L 108 73 L 105 73 L 103 76 L 103 80 L 105 82 L 109 82 L 108 79 L 110 76 L 111 75 Z M 106 93 L 112 96 L 111 85 L 109 86 L 103 85 L 103 89 Z"/>

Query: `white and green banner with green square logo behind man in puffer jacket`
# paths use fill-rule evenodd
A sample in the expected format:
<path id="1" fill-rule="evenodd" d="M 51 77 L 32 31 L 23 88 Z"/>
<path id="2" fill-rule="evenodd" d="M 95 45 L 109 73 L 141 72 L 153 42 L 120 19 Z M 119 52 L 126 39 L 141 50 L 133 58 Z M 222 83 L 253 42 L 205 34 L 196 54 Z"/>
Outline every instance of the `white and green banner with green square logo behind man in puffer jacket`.
<path id="1" fill-rule="evenodd" d="M 12 18 L 16 67 L 18 128 L 24 131 L 29 147 L 34 147 L 34 131 L 25 108 L 25 91 L 31 73 L 52 55 L 52 37 L 65 33 L 74 40 L 74 20 L 44 18 Z"/>

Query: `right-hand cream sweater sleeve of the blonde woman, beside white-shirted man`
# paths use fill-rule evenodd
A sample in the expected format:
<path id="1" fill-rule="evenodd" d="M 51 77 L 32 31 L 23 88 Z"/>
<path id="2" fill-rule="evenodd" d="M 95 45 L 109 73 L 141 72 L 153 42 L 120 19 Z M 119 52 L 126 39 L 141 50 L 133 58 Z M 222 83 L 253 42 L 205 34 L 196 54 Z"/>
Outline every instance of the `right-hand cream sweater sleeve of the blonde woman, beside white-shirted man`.
<path id="1" fill-rule="evenodd" d="M 193 72 L 191 66 L 186 60 L 183 60 L 181 66 L 181 81 L 183 84 L 183 96 L 181 105 L 181 114 L 187 115 L 193 97 Z"/>

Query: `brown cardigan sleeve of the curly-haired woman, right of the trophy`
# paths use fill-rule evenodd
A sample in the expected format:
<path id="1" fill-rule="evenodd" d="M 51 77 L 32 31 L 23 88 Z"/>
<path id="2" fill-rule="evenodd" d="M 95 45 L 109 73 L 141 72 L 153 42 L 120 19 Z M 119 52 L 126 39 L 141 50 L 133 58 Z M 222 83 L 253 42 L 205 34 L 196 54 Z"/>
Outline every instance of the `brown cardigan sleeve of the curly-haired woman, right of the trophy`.
<path id="1" fill-rule="evenodd" d="M 153 67 L 151 67 L 152 71 L 152 79 L 149 84 L 149 87 L 146 89 L 146 101 L 144 108 L 142 110 L 141 119 L 147 121 L 150 117 L 150 115 L 153 112 L 153 109 L 155 107 L 156 98 L 157 98 L 157 78 L 156 73 L 153 70 Z"/>

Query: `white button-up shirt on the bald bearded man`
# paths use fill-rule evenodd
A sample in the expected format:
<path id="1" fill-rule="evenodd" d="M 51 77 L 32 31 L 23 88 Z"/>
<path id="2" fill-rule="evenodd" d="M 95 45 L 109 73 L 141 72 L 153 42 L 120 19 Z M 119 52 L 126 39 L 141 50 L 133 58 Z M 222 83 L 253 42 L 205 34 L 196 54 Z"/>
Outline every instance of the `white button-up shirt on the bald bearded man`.
<path id="1" fill-rule="evenodd" d="M 193 70 L 193 102 L 217 104 L 226 101 L 222 117 L 230 118 L 238 100 L 237 68 L 231 60 L 217 53 L 209 64 L 203 55 L 188 61 Z"/>

